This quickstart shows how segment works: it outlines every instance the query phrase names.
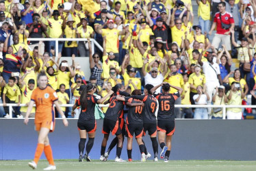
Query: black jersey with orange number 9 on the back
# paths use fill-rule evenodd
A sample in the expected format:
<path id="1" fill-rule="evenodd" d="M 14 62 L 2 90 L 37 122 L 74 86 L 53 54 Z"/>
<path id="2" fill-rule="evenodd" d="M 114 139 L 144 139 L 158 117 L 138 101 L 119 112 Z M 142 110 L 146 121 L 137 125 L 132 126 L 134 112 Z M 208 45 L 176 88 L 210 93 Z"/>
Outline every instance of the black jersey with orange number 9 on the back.
<path id="1" fill-rule="evenodd" d="M 139 99 L 140 101 L 143 101 L 143 103 L 145 104 L 142 110 L 143 123 L 155 124 L 155 111 L 157 109 L 157 99 L 151 95 L 135 95 L 131 97 Z"/>

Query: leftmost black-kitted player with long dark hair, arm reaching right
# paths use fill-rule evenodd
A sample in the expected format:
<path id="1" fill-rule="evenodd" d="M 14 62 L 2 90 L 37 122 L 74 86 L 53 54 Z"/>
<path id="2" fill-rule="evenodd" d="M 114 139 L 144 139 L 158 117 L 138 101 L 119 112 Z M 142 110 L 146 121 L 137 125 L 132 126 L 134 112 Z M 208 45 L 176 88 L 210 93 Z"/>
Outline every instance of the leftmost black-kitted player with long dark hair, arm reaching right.
<path id="1" fill-rule="evenodd" d="M 83 159 L 86 159 L 86 161 L 91 161 L 89 157 L 89 153 L 94 144 L 95 131 L 97 129 L 97 123 L 94 116 L 95 104 L 103 103 L 106 100 L 106 98 L 108 98 L 114 92 L 113 91 L 108 92 L 107 95 L 101 99 L 97 99 L 93 95 L 93 93 L 94 93 L 94 87 L 92 86 L 92 84 L 88 84 L 87 86 L 85 86 L 83 92 L 81 92 L 81 96 L 78 99 L 78 101 L 76 101 L 75 105 L 73 105 L 72 107 L 73 111 L 77 107 L 81 107 L 81 112 L 79 115 L 79 119 L 77 121 L 77 127 L 80 135 L 80 142 L 78 145 L 79 161 L 83 161 Z M 86 144 L 87 133 L 88 133 L 89 140 L 88 140 L 88 143 Z M 85 144 L 86 144 L 86 153 L 84 155 Z"/>

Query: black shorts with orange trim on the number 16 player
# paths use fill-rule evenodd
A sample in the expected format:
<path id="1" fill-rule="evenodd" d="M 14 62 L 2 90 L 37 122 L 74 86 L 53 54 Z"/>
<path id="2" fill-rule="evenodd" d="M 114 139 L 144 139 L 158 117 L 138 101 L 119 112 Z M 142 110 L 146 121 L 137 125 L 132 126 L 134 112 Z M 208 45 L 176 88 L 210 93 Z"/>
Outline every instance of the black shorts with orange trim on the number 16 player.
<path id="1" fill-rule="evenodd" d="M 174 120 L 157 120 L 157 131 L 166 133 L 166 135 L 173 135 L 175 133 Z"/>

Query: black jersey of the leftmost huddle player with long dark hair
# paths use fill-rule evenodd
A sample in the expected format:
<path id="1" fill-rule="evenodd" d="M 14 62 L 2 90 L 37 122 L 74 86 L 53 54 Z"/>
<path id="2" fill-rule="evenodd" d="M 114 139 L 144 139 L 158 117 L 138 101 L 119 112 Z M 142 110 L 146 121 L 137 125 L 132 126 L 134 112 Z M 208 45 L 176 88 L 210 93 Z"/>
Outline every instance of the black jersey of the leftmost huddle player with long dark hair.
<path id="1" fill-rule="evenodd" d="M 95 104 L 97 103 L 98 99 L 91 94 L 87 94 L 87 107 L 86 109 L 81 109 L 79 119 L 80 121 L 92 121 L 93 123 L 95 122 L 95 115 L 94 115 L 94 109 L 95 109 Z M 80 106 L 80 98 L 78 101 L 75 103 L 76 106 Z"/>

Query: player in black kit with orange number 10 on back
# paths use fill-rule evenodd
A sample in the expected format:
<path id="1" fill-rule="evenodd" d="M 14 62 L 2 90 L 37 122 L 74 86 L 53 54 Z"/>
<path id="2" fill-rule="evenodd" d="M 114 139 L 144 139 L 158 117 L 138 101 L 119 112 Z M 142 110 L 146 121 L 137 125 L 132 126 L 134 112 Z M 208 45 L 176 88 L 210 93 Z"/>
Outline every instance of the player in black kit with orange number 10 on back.
<path id="1" fill-rule="evenodd" d="M 133 90 L 131 95 L 140 95 L 140 90 Z M 143 135 L 143 117 L 142 109 L 144 103 L 136 98 L 117 96 L 119 101 L 125 101 L 129 106 L 128 114 L 126 118 L 126 131 L 127 131 L 127 154 L 128 161 L 132 161 L 131 150 L 133 142 L 133 134 L 135 134 L 136 140 L 140 147 L 141 161 L 146 161 L 146 155 L 144 153 L 144 143 L 142 142 Z"/>

